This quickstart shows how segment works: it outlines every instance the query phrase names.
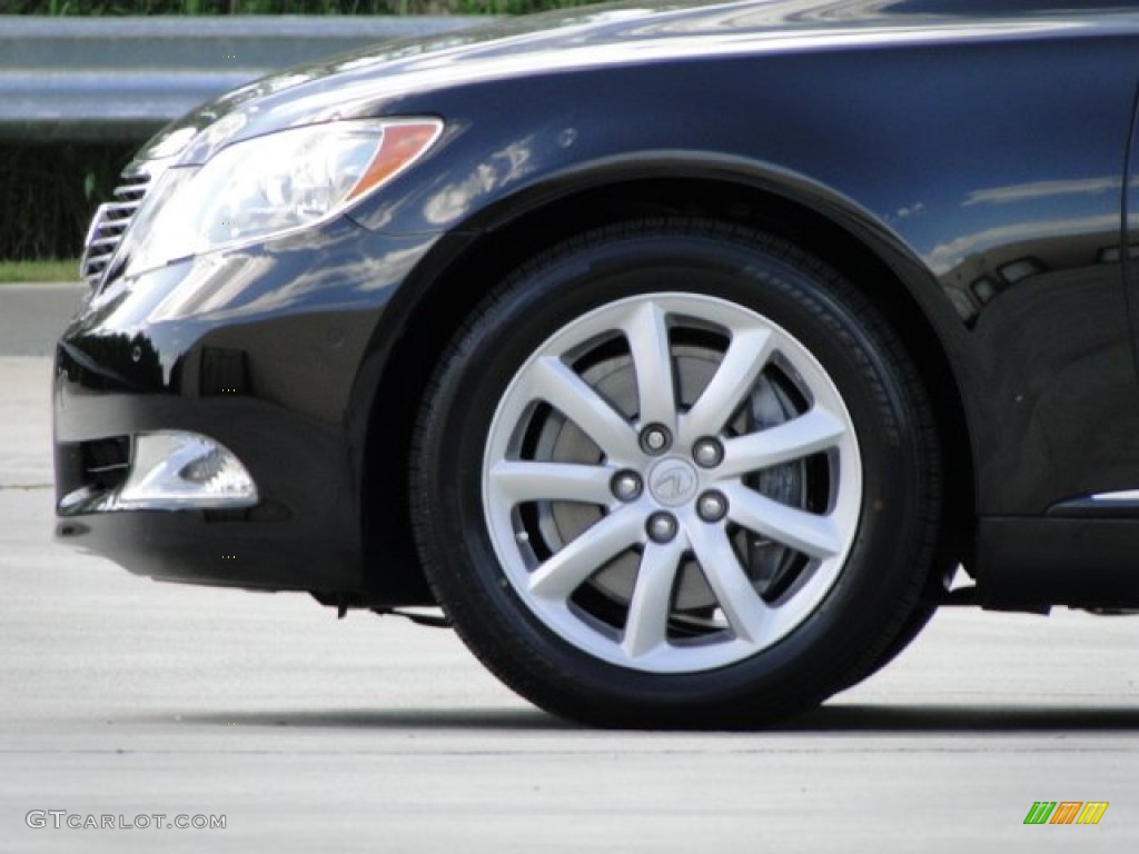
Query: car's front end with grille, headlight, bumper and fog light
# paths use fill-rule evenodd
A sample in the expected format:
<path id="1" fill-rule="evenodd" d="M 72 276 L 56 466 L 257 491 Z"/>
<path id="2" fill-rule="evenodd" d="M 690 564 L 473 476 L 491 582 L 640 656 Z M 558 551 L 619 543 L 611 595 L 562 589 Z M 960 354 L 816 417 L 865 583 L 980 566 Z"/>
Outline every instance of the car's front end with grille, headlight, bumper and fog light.
<path id="1" fill-rule="evenodd" d="M 212 157 L 170 153 L 175 131 L 128 167 L 92 222 L 91 293 L 57 348 L 63 540 L 161 578 L 360 588 L 352 385 L 434 237 L 371 232 L 344 210 L 441 130 L 350 120 Z"/>

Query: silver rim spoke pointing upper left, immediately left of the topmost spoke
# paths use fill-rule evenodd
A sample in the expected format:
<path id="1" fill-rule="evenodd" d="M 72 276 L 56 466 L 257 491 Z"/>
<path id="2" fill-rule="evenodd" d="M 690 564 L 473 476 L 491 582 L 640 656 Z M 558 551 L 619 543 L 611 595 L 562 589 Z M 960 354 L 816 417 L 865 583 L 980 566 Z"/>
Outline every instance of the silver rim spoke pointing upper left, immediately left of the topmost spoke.
<path id="1" fill-rule="evenodd" d="M 535 399 L 546 401 L 577 425 L 611 460 L 638 459 L 633 428 L 560 359 L 538 360 L 532 383 Z"/>

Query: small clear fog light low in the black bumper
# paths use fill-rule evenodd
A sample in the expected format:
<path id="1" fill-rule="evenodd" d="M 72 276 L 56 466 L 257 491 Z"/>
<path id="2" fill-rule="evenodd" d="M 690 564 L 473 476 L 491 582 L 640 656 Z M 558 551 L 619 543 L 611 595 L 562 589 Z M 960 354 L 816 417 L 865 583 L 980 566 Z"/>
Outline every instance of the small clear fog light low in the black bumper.
<path id="1" fill-rule="evenodd" d="M 144 433 L 134 437 L 130 475 L 116 510 L 216 510 L 253 507 L 257 486 L 240 460 L 197 433 Z"/>

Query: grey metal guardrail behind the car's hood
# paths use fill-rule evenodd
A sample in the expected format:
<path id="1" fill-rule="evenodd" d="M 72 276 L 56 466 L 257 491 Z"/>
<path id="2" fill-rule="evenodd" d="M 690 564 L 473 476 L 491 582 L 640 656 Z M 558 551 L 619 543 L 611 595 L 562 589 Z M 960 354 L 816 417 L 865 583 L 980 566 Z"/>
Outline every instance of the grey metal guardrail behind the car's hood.
<path id="1" fill-rule="evenodd" d="M 0 140 L 139 141 L 297 63 L 481 17 L 0 17 Z"/>

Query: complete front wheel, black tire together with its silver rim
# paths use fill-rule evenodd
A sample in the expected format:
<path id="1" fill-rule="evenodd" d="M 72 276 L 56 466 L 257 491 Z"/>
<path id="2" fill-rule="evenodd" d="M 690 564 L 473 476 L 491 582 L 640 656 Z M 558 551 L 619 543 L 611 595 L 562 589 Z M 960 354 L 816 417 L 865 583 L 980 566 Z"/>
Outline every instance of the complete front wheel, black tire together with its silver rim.
<path id="1" fill-rule="evenodd" d="M 863 678 L 916 616 L 939 450 L 907 353 L 833 270 L 644 221 L 473 312 L 410 495 L 440 605 L 519 695 L 603 726 L 755 726 Z"/>

